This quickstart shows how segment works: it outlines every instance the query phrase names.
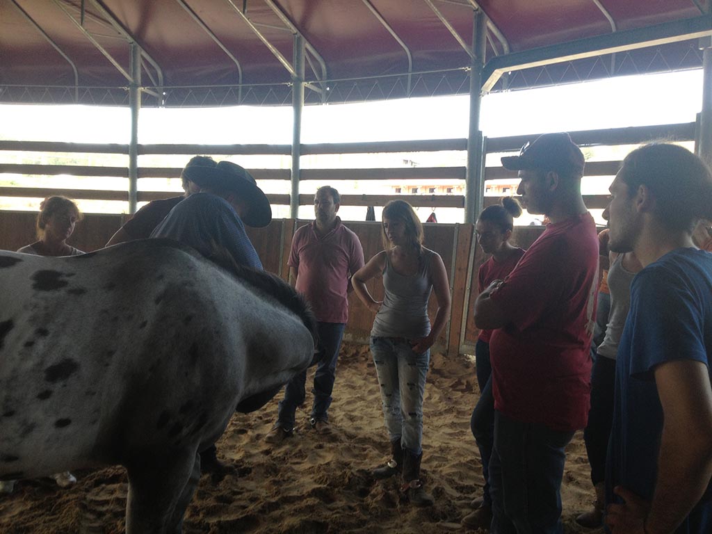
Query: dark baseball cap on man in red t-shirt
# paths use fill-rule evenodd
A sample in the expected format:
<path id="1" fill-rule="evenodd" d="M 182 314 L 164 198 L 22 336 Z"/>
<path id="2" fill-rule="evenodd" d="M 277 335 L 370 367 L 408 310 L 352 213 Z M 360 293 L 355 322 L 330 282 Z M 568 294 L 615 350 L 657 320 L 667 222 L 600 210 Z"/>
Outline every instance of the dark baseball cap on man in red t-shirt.
<path id="1" fill-rule="evenodd" d="M 556 171 L 583 176 L 581 149 L 566 132 L 544 134 L 522 147 L 518 156 L 502 158 L 505 169 L 513 171 Z"/>

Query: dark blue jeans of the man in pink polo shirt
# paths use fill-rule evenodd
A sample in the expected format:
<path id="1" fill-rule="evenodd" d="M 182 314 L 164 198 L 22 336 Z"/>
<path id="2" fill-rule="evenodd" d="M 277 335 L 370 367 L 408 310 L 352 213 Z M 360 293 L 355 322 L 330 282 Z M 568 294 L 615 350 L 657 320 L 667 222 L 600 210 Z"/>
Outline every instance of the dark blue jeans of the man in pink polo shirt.
<path id="1" fill-rule="evenodd" d="M 331 392 L 336 379 L 336 362 L 339 357 L 341 340 L 344 336 L 344 323 L 317 323 L 318 364 L 314 373 L 314 404 L 311 418 L 328 421 L 327 413 L 331 405 Z M 298 406 L 304 404 L 307 372 L 301 372 L 287 383 L 284 389 L 284 399 L 279 402 L 277 422 L 285 429 L 293 429 L 295 412 Z"/>

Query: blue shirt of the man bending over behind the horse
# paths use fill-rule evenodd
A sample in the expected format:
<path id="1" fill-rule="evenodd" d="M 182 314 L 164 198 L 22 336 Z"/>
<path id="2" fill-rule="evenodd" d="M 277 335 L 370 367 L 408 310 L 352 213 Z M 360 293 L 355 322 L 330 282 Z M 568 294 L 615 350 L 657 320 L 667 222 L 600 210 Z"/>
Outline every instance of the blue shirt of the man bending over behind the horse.
<path id="1" fill-rule="evenodd" d="M 214 241 L 226 248 L 240 265 L 263 270 L 237 212 L 228 201 L 214 194 L 195 193 L 177 204 L 151 237 L 180 241 L 206 257 L 211 256 Z"/>

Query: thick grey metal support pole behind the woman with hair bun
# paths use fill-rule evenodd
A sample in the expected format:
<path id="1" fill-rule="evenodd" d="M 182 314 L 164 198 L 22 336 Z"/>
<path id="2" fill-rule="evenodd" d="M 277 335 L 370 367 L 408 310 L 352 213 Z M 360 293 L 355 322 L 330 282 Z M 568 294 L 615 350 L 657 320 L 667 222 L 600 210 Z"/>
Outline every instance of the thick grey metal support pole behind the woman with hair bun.
<path id="1" fill-rule="evenodd" d="M 470 128 L 467 135 L 467 174 L 465 182 L 465 222 L 474 224 L 482 209 L 484 187 L 483 145 L 480 132 L 480 104 L 482 100 L 482 70 L 485 65 L 487 17 L 481 9 L 474 12 L 472 22 L 473 55 L 470 68 Z"/>

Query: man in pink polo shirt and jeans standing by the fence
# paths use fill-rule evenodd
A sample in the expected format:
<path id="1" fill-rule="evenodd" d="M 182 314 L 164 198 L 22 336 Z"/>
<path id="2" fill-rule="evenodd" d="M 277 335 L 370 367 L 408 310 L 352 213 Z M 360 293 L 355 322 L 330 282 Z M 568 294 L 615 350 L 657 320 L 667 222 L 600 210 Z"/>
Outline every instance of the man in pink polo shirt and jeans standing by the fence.
<path id="1" fill-rule="evenodd" d="M 289 255 L 289 279 L 312 306 L 318 320 L 318 364 L 310 424 L 319 434 L 330 432 L 328 409 L 336 377 L 336 361 L 348 319 L 350 276 L 363 266 L 363 249 L 356 234 L 337 216 L 340 195 L 329 186 L 314 197 L 316 219 L 295 231 Z M 266 436 L 279 443 L 293 433 L 295 412 L 304 404 L 306 371 L 287 384 L 277 422 Z"/>

